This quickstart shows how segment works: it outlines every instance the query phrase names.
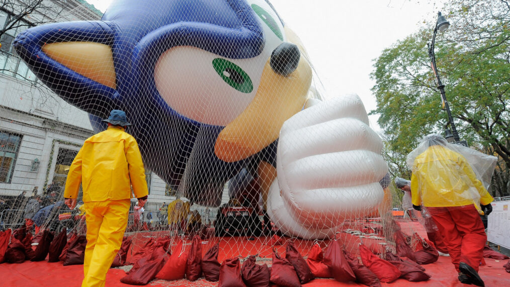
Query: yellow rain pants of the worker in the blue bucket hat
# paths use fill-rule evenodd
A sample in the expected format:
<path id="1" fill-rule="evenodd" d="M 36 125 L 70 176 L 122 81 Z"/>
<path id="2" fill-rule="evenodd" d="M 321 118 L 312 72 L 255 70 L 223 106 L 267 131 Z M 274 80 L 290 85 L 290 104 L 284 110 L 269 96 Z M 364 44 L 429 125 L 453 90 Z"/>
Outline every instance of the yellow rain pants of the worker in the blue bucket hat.
<path id="1" fill-rule="evenodd" d="M 85 202 L 87 247 L 82 287 L 105 286 L 106 273 L 122 244 L 130 199 Z"/>

